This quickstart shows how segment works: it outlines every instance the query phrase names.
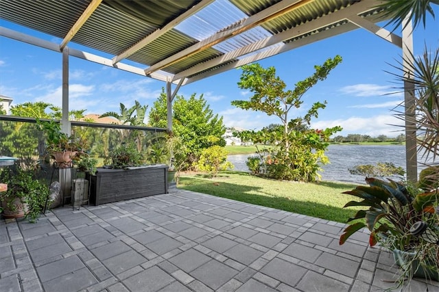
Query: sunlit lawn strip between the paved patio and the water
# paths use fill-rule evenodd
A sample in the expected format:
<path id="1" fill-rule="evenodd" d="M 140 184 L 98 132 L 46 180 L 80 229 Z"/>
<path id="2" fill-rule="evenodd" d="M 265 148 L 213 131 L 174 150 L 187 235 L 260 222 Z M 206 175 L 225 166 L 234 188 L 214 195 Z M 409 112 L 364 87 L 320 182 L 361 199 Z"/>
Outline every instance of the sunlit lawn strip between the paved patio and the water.
<path id="1" fill-rule="evenodd" d="M 344 204 L 355 197 L 341 193 L 354 187 L 356 185 L 334 182 L 275 181 L 246 172 L 220 172 L 216 178 L 182 174 L 178 185 L 180 189 L 342 223 L 353 217 L 356 209 L 343 209 Z"/>

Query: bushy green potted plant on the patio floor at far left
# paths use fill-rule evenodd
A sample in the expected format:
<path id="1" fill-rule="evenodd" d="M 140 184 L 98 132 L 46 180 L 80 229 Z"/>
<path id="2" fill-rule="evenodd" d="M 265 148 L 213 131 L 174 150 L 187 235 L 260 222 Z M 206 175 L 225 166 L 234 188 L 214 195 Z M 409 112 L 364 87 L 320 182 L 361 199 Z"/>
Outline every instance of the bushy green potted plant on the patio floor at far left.
<path id="1" fill-rule="evenodd" d="M 8 185 L 5 191 L 0 192 L 3 217 L 26 217 L 29 222 L 36 222 L 49 193 L 46 183 L 38 181 L 32 172 L 20 167 L 2 170 L 0 181 Z"/>

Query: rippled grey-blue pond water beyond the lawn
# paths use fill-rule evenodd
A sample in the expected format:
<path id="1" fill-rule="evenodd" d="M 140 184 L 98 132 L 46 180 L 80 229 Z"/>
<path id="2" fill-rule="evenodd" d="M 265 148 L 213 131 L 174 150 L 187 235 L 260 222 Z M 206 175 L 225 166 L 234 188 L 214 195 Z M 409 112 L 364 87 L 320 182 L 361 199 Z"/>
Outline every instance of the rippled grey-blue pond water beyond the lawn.
<path id="1" fill-rule="evenodd" d="M 364 183 L 364 176 L 349 173 L 355 165 L 391 162 L 405 169 L 405 146 L 330 145 L 326 155 L 331 163 L 323 165 L 322 181 L 345 181 Z M 251 155 L 228 155 L 234 170 L 248 172 L 247 157 Z"/>

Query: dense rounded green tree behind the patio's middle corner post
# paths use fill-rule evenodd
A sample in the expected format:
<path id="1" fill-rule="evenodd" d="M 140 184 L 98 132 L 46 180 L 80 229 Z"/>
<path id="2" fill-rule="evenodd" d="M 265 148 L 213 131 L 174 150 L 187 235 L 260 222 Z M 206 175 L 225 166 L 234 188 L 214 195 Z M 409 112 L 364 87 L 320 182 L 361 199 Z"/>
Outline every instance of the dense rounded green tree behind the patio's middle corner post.
<path id="1" fill-rule="evenodd" d="M 202 94 L 190 98 L 177 95 L 174 99 L 172 116 L 172 132 L 179 137 L 187 151 L 186 168 L 198 161 L 203 149 L 211 146 L 225 146 L 222 137 L 226 127 L 222 117 L 213 114 Z M 149 122 L 152 127 L 167 127 L 166 94 L 162 90 L 150 110 Z"/>

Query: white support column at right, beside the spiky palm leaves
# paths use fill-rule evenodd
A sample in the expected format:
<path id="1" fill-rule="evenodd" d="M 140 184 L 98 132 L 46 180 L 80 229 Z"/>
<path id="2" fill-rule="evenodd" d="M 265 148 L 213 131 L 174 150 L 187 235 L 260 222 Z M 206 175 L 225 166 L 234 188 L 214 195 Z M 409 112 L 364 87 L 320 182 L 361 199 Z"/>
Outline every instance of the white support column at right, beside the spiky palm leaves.
<path id="1" fill-rule="evenodd" d="M 407 23 L 407 25 L 406 25 Z M 407 180 L 418 181 L 418 157 L 416 143 L 415 98 L 413 79 L 414 63 L 412 21 L 406 17 L 403 21 L 403 70 L 404 70 L 404 107 L 405 107 L 405 160 Z"/>

